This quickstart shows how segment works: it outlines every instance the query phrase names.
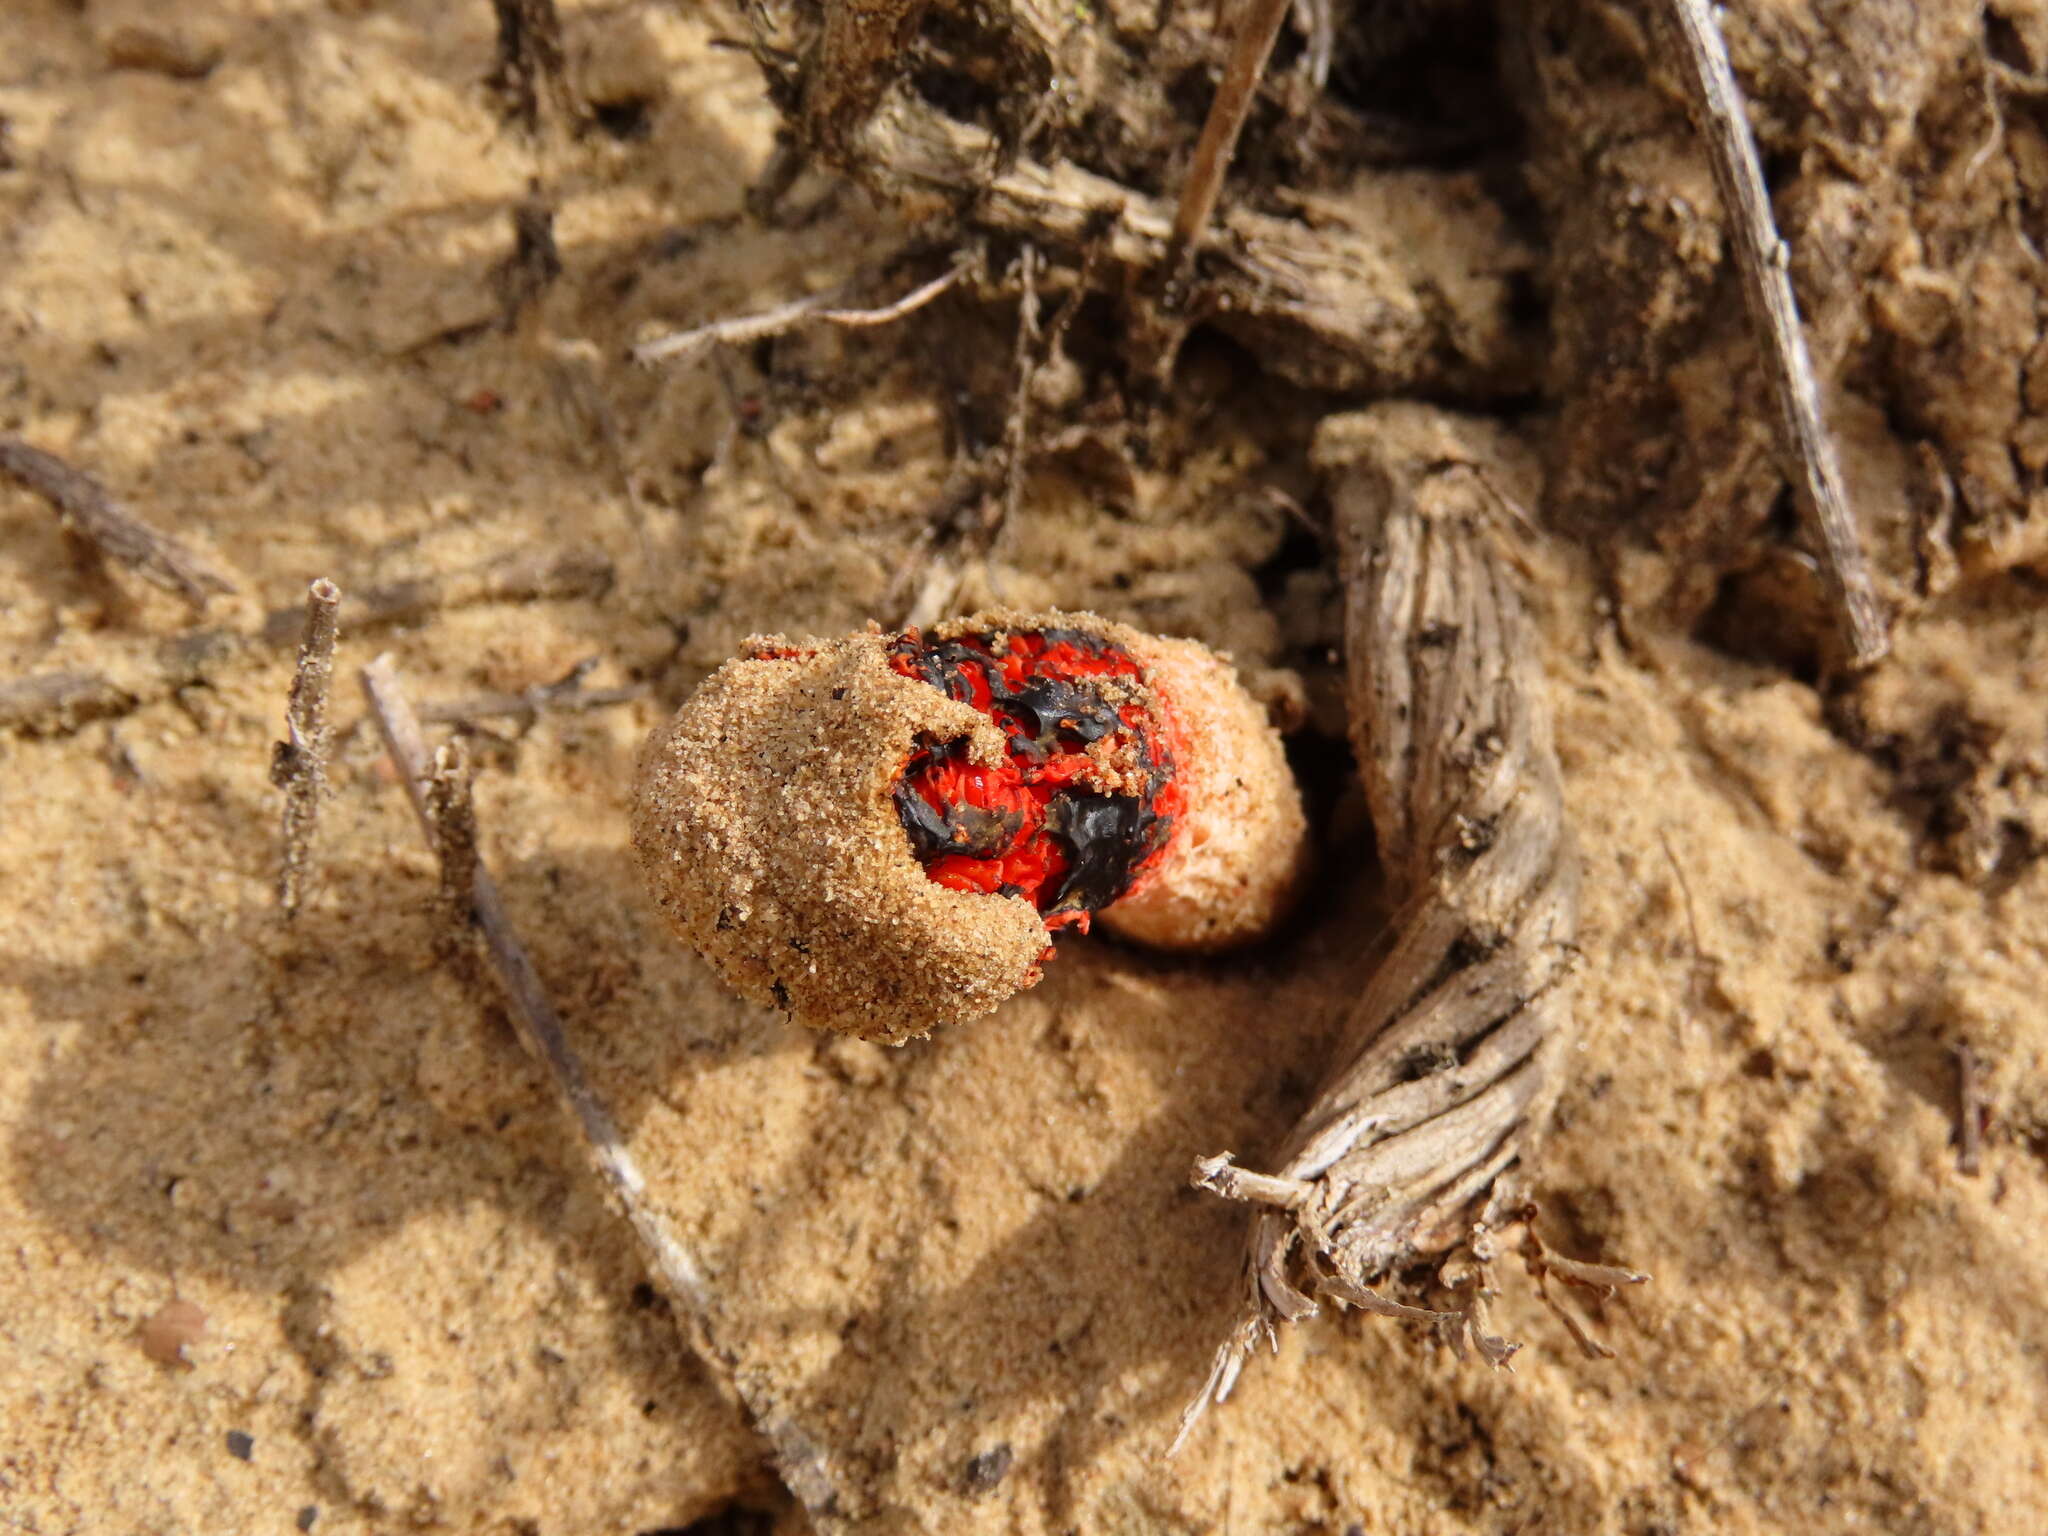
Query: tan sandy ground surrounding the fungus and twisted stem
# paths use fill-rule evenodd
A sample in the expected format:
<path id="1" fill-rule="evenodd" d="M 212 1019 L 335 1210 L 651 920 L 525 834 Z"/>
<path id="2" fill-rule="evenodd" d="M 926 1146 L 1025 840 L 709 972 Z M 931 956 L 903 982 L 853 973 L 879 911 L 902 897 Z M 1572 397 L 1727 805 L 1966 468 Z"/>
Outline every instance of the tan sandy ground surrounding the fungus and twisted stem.
<path id="1" fill-rule="evenodd" d="M 0 428 L 240 584 L 195 614 L 0 489 L 0 678 L 111 700 L 0 737 L 0 1528 L 1647 1536 L 2048 1507 L 2038 584 L 1929 602 L 1847 729 L 1673 631 L 1665 559 L 1532 545 L 1587 924 L 1575 1077 L 1524 1178 L 1563 1251 L 1655 1280 L 1589 1360 L 1509 1266 L 1513 1374 L 1319 1319 L 1163 1462 L 1243 1231 L 1186 1167 L 1284 1135 L 1386 918 L 1356 795 L 1305 737 L 1325 872 L 1274 946 L 1075 944 L 895 1051 L 780 1024 L 674 946 L 627 852 L 639 741 L 745 633 L 887 608 L 944 406 L 913 344 L 805 338 L 731 391 L 616 360 L 897 236 L 823 182 L 809 221 L 743 217 L 774 113 L 713 23 L 567 20 L 612 127 L 532 143 L 481 90 L 483 6 L 0 18 Z M 532 182 L 565 274 L 506 332 L 492 268 Z M 1327 578 L 1257 580 L 1290 537 L 1257 487 L 1313 498 L 1305 406 L 1196 358 L 1174 410 L 1114 514 L 1034 483 L 969 602 L 1313 659 Z M 586 657 L 647 684 L 471 750 L 485 856 L 719 1298 L 709 1362 L 496 995 L 434 958 L 432 864 L 352 682 L 315 895 L 279 920 L 270 614 L 313 575 L 418 598 L 344 618 L 344 680 L 389 649 L 426 700 Z M 1991 1106 L 1974 1178 L 1958 1047 Z M 182 1362 L 145 1350 L 174 1300 L 203 1313 Z"/>

